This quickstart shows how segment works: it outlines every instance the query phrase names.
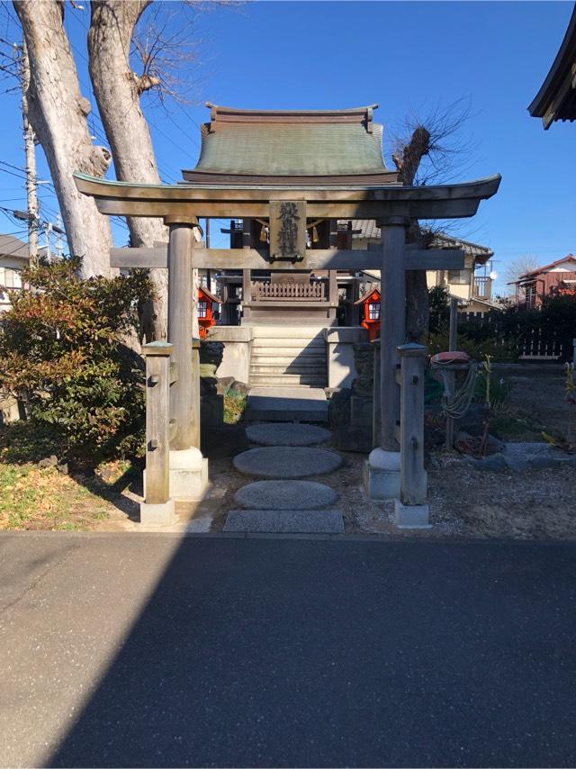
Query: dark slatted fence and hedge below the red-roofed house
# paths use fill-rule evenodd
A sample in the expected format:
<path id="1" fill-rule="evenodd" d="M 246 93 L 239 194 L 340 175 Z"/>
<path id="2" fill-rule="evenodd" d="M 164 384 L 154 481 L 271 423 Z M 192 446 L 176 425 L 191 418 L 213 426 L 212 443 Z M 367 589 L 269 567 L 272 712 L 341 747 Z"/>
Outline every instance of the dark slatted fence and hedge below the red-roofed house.
<path id="1" fill-rule="evenodd" d="M 459 312 L 458 331 L 482 342 L 494 340 L 513 348 L 518 357 L 572 360 L 572 319 L 539 310 L 504 312 Z"/>

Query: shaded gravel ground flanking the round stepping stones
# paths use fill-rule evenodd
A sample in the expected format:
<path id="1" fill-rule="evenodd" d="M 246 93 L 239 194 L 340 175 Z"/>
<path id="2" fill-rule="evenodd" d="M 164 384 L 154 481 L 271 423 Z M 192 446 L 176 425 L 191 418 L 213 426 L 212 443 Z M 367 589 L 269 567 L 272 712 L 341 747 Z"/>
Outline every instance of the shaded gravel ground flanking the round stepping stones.
<path id="1" fill-rule="evenodd" d="M 331 507 L 342 511 L 347 534 L 381 534 L 391 538 L 511 537 L 576 538 L 574 470 L 563 467 L 529 473 L 479 472 L 459 455 L 433 455 L 428 469 L 430 515 L 426 531 L 399 531 L 392 523 L 392 503 L 368 499 L 362 486 L 365 455 L 340 452 L 343 466 L 314 480 L 338 492 Z M 211 463 L 211 478 L 220 489 L 212 531 L 221 531 L 228 511 L 237 507 L 234 493 L 249 479 L 231 460 Z"/>

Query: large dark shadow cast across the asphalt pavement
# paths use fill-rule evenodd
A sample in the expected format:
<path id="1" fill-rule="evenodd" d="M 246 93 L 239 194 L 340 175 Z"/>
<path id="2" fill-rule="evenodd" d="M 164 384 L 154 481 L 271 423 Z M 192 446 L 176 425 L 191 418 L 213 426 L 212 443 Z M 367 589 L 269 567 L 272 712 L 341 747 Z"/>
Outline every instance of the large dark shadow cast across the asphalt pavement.
<path id="1" fill-rule="evenodd" d="M 574 553 L 184 538 L 50 764 L 572 765 Z"/>

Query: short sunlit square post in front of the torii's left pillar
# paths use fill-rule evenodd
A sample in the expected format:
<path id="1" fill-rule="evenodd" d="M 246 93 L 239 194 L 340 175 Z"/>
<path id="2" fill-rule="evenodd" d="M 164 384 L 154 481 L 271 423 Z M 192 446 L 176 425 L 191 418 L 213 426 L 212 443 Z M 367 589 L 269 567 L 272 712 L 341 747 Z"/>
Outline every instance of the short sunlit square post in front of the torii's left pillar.
<path id="1" fill-rule="evenodd" d="M 169 485 L 170 356 L 172 345 L 157 341 L 144 345 L 146 358 L 146 470 L 140 522 L 170 526 L 175 523 Z"/>

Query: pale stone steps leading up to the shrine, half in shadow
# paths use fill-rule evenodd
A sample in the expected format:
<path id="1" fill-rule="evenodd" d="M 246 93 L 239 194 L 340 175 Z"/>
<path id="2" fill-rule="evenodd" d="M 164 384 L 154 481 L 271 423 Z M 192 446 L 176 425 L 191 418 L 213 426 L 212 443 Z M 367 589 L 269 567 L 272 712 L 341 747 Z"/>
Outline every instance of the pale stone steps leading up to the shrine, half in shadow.
<path id="1" fill-rule="evenodd" d="M 324 328 L 253 326 L 250 385 L 326 387 L 328 372 Z"/>

